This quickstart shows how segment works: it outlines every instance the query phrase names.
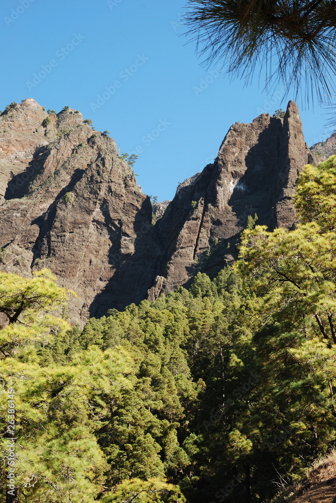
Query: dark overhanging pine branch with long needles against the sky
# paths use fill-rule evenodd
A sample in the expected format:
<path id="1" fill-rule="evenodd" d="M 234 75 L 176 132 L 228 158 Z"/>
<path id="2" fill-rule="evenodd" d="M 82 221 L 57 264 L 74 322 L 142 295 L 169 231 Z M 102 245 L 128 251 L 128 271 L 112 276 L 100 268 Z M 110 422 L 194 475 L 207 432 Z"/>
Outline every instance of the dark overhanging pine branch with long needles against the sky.
<path id="1" fill-rule="evenodd" d="M 332 103 L 336 2 L 189 0 L 184 22 L 206 64 L 249 79 L 259 67 L 266 86 L 280 80 L 309 101 Z"/>

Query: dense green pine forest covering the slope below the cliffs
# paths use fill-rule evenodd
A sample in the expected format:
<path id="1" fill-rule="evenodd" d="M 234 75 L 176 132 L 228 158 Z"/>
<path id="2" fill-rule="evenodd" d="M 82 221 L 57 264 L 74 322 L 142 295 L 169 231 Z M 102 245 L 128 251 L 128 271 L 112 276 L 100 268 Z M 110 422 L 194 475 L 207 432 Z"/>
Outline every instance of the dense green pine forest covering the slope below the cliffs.
<path id="1" fill-rule="evenodd" d="M 213 280 L 83 330 L 50 271 L 0 273 L 2 500 L 15 477 L 15 503 L 266 503 L 332 449 L 336 156 L 295 205 Z"/>

